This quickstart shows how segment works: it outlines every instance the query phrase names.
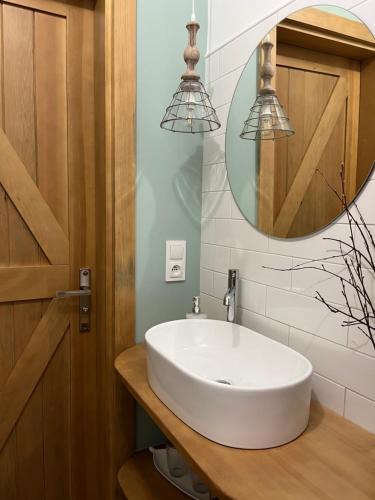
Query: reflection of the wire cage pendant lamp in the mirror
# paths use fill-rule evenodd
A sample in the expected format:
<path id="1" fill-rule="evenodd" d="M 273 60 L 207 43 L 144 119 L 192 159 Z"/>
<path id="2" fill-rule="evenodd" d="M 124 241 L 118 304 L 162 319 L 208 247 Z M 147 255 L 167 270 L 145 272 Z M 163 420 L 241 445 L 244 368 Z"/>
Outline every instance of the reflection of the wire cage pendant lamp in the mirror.
<path id="1" fill-rule="evenodd" d="M 272 47 L 273 43 L 269 35 L 267 35 L 262 43 L 264 63 L 260 70 L 260 76 L 263 85 L 250 109 L 249 118 L 245 121 L 240 134 L 241 139 L 253 141 L 275 140 L 294 134 L 284 108 L 271 85 L 271 80 L 275 74 L 271 62 Z"/>

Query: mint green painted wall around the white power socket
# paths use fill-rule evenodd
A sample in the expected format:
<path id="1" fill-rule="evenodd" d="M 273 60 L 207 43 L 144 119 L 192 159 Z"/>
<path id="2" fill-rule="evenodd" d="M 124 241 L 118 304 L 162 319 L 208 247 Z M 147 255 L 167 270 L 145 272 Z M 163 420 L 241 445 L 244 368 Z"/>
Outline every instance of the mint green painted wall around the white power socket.
<path id="1" fill-rule="evenodd" d="M 204 76 L 207 2 L 196 3 Z M 142 342 L 151 326 L 185 317 L 199 293 L 203 141 L 159 126 L 185 68 L 191 1 L 138 0 L 137 9 L 136 339 Z M 185 282 L 164 281 L 167 239 L 187 240 Z M 160 439 L 139 409 L 137 447 Z"/>

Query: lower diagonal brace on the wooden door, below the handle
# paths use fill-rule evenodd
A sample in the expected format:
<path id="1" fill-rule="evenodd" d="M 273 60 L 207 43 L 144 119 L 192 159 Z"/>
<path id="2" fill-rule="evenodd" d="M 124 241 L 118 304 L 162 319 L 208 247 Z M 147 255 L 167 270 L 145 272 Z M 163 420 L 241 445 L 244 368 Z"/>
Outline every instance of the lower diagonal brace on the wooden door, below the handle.
<path id="1" fill-rule="evenodd" d="M 0 389 L 0 451 L 69 326 L 68 300 L 53 299 Z"/>

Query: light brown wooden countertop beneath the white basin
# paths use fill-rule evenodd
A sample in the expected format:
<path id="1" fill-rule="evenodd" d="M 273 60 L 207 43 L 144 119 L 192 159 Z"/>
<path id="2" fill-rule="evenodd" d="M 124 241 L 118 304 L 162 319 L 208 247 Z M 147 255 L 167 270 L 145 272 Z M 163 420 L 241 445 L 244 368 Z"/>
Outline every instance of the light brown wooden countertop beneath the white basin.
<path id="1" fill-rule="evenodd" d="M 142 345 L 115 363 L 122 382 L 220 500 L 375 500 L 375 435 L 312 404 L 305 433 L 268 450 L 214 443 L 176 417 L 148 385 Z M 375 381 L 374 381 L 375 383 Z"/>

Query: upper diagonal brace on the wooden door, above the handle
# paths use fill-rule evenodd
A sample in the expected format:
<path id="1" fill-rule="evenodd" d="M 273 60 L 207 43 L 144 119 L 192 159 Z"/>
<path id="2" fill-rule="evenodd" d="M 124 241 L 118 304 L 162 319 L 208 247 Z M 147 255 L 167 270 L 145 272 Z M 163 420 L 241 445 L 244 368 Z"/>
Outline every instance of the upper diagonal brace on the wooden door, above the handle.
<path id="1" fill-rule="evenodd" d="M 0 183 L 51 264 L 68 264 L 68 239 L 3 130 Z"/>

